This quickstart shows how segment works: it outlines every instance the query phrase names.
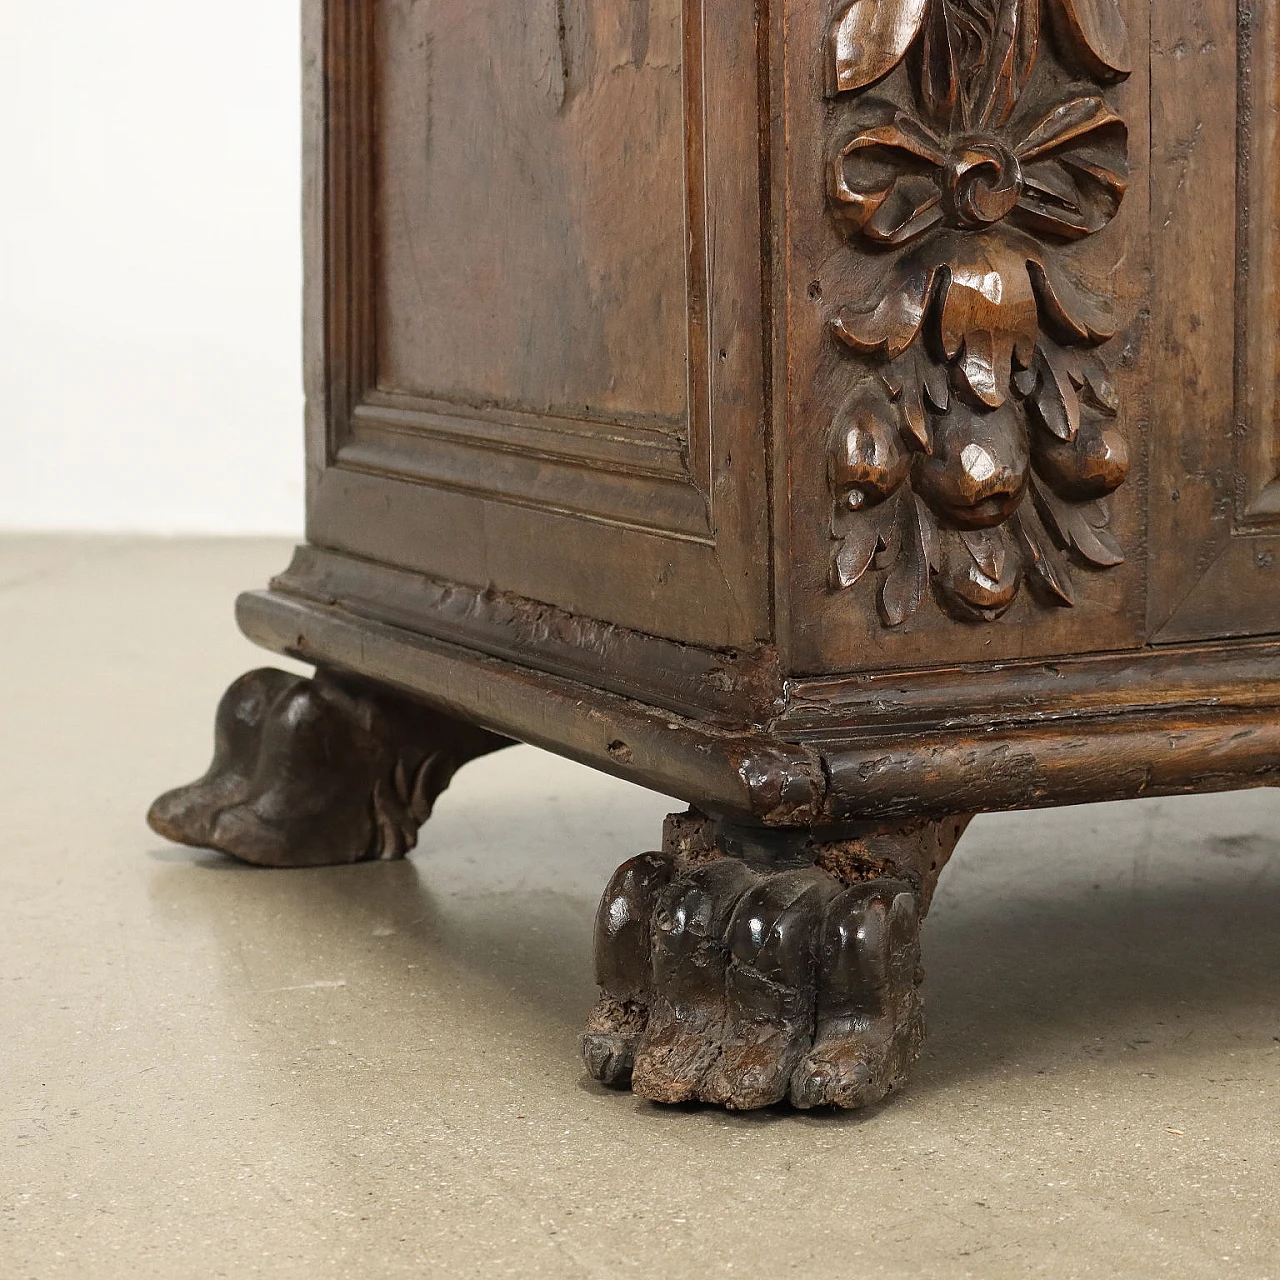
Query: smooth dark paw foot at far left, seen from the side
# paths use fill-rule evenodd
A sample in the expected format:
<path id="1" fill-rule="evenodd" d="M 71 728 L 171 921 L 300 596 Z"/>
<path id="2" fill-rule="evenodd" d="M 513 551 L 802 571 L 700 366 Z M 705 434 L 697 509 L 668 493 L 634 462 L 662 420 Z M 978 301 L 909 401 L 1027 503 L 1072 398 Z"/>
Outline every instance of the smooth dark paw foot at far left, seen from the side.
<path id="1" fill-rule="evenodd" d="M 356 677 L 262 668 L 223 695 L 214 759 L 147 822 L 260 867 L 402 858 L 467 760 L 508 745 Z"/>

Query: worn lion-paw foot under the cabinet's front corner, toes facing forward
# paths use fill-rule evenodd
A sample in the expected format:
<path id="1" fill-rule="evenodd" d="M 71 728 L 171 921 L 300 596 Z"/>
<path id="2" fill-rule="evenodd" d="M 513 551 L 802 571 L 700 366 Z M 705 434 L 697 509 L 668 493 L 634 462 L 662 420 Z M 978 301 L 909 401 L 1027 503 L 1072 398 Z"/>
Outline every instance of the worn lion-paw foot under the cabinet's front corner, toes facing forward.
<path id="1" fill-rule="evenodd" d="M 919 1055 L 920 918 L 966 820 L 818 844 L 668 819 L 600 902 L 588 1070 L 655 1102 L 879 1102 Z"/>

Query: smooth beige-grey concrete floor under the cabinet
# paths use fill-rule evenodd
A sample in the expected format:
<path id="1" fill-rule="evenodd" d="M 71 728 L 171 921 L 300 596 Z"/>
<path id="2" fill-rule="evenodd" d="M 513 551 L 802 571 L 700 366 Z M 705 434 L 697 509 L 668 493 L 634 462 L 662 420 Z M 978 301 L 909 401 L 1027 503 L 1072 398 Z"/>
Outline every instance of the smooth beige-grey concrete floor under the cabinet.
<path id="1" fill-rule="evenodd" d="M 402 864 L 168 847 L 278 541 L 0 540 L 0 1276 L 1280 1277 L 1280 796 L 979 818 L 865 1115 L 584 1078 L 662 796 L 531 748 Z"/>

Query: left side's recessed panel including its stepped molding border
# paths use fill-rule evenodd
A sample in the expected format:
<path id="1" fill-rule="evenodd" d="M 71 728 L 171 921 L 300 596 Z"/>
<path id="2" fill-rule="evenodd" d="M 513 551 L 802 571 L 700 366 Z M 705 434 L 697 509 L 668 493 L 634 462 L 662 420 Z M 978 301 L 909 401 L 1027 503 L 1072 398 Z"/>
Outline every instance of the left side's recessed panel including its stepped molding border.
<path id="1" fill-rule="evenodd" d="M 701 79 L 607 8 L 329 5 L 329 461 L 709 540 Z"/>

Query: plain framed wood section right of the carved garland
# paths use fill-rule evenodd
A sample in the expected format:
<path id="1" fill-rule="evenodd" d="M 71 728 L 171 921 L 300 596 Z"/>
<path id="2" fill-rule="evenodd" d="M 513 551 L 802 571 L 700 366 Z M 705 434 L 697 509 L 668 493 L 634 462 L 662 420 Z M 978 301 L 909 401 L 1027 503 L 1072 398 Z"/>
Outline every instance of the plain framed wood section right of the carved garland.
<path id="1" fill-rule="evenodd" d="M 1280 631 L 1280 24 L 1252 0 L 1152 13 L 1151 635 L 1268 635 Z"/>

